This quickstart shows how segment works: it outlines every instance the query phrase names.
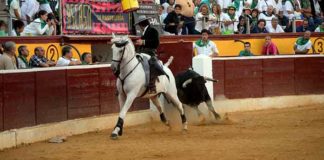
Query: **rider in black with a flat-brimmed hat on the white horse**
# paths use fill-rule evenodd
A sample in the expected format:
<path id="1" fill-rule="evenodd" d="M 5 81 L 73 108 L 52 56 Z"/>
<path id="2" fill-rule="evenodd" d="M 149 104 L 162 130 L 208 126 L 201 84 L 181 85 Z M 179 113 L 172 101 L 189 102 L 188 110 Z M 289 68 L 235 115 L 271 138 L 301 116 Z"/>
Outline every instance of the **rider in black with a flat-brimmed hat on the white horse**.
<path id="1" fill-rule="evenodd" d="M 159 75 L 167 75 L 162 65 L 159 63 L 157 59 L 156 52 L 157 48 L 160 44 L 159 33 L 158 31 L 151 27 L 149 18 L 144 15 L 138 17 L 138 21 L 135 25 L 139 25 L 142 30 L 142 36 L 140 39 L 136 41 L 136 45 L 138 45 L 138 53 L 145 53 L 151 56 L 149 60 L 150 64 L 150 81 L 149 81 L 149 93 L 156 93 L 155 81 Z"/>

